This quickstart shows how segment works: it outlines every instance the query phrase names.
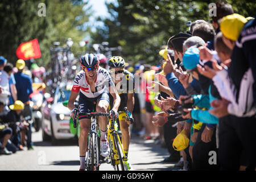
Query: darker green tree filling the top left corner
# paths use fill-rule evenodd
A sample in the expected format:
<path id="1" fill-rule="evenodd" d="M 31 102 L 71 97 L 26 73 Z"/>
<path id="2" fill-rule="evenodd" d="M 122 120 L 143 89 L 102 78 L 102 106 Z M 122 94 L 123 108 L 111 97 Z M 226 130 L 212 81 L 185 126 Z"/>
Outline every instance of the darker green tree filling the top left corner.
<path id="1" fill-rule="evenodd" d="M 16 61 L 16 48 L 22 42 L 46 36 L 44 27 L 49 22 L 40 18 L 38 4 L 48 1 L 7 1 L 0 2 L 0 54 L 11 63 Z"/>

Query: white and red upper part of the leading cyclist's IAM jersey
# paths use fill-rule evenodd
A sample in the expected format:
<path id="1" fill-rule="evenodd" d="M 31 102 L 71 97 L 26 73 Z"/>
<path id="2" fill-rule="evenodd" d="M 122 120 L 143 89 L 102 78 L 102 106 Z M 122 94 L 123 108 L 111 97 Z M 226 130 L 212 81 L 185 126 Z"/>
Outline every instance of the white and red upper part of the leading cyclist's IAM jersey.
<path id="1" fill-rule="evenodd" d="M 73 82 L 72 91 L 80 91 L 80 93 L 84 94 L 88 98 L 95 98 L 108 90 L 108 87 L 112 85 L 114 85 L 114 82 L 112 81 L 108 71 L 106 71 L 106 69 L 104 68 L 98 67 L 94 93 L 92 93 L 92 91 L 90 90 L 90 85 L 87 81 L 84 71 L 80 71 L 79 73 L 77 73 Z"/>

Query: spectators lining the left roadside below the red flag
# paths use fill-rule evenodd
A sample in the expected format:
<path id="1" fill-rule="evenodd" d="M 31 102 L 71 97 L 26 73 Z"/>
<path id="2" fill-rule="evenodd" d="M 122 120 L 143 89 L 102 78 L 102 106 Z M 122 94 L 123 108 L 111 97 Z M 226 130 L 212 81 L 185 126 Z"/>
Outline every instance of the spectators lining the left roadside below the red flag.
<path id="1" fill-rule="evenodd" d="M 30 71 L 21 59 L 13 67 L 0 56 L 0 155 L 24 150 L 24 146 L 27 150 L 34 149 L 30 102 L 34 92 L 32 82 L 37 82 L 40 76 L 36 77 L 38 67 L 32 67 L 35 69 Z"/>

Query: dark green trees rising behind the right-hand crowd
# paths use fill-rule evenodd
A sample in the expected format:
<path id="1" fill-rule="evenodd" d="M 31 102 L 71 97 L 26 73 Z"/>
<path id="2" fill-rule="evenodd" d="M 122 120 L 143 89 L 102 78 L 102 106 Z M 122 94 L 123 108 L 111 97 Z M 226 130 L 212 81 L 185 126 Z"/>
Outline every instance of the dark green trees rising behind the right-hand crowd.
<path id="1" fill-rule="evenodd" d="M 209 3 L 213 1 L 118 0 L 106 4 L 110 18 L 102 20 L 92 35 L 94 43 L 108 41 L 110 47 L 122 46 L 122 56 L 137 63 L 158 64 L 158 52 L 178 32 L 187 31 L 188 20 L 209 21 Z M 236 13 L 253 16 L 255 2 L 228 1 Z"/>

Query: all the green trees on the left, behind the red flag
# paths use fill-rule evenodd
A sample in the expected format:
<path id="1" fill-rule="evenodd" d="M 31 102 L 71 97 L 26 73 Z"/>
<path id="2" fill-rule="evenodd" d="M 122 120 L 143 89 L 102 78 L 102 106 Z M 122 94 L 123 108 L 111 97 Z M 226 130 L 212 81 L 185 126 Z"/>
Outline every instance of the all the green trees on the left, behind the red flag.
<path id="1" fill-rule="evenodd" d="M 46 4 L 46 16 L 38 16 L 39 3 Z M 82 0 L 1 1 L 0 55 L 15 64 L 19 44 L 35 38 L 42 53 L 42 57 L 36 59 L 39 65 L 50 61 L 49 48 L 55 41 L 63 46 L 68 38 L 72 38 L 72 51 L 80 51 L 79 41 L 90 31 L 84 27 L 91 13 L 90 7 L 83 9 L 86 4 L 87 1 Z"/>

